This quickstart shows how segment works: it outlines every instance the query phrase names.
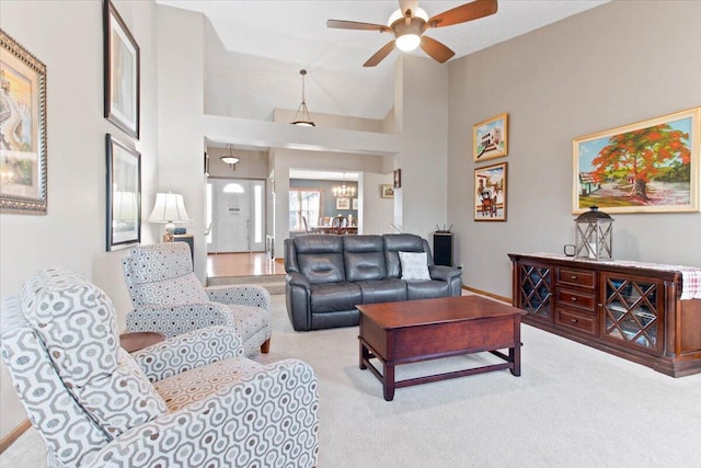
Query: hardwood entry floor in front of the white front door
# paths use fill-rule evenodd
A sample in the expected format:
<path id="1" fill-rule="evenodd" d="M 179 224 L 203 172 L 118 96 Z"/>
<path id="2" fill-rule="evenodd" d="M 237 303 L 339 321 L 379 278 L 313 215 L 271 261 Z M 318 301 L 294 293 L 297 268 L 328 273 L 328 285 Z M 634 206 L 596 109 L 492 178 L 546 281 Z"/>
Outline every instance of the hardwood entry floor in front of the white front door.
<path id="1" fill-rule="evenodd" d="M 207 255 L 207 277 L 284 275 L 281 259 L 275 261 L 266 252 L 210 253 Z"/>

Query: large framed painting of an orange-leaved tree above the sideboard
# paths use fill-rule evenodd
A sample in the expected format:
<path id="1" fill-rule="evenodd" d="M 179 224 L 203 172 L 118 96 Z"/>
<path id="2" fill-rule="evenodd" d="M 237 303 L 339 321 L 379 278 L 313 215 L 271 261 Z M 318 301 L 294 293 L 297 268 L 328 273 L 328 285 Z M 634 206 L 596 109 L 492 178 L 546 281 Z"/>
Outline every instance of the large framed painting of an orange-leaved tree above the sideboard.
<path id="1" fill-rule="evenodd" d="M 573 140 L 572 212 L 699 210 L 701 107 Z"/>

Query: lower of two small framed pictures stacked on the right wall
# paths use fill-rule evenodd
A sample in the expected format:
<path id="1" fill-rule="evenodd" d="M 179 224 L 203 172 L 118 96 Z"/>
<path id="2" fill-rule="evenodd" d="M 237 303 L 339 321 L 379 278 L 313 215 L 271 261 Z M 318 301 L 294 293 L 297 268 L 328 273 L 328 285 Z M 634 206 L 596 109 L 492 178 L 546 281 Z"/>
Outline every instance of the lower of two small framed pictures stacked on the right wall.
<path id="1" fill-rule="evenodd" d="M 474 170 L 474 220 L 506 220 L 506 162 Z"/>

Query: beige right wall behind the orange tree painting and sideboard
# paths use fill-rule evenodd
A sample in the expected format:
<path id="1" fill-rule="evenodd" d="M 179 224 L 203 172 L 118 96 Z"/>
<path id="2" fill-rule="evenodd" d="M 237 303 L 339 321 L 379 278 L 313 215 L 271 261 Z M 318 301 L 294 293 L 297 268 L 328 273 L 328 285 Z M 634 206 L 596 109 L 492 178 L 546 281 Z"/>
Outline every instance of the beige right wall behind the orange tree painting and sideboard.
<path id="1" fill-rule="evenodd" d="M 450 64 L 449 222 L 464 284 L 510 297 L 508 252 L 573 243 L 573 138 L 701 105 L 700 18 L 701 2 L 611 2 Z M 471 129 L 503 112 L 508 156 L 489 162 L 508 162 L 507 221 L 475 222 Z M 701 266 L 701 214 L 612 216 L 614 258 Z"/>

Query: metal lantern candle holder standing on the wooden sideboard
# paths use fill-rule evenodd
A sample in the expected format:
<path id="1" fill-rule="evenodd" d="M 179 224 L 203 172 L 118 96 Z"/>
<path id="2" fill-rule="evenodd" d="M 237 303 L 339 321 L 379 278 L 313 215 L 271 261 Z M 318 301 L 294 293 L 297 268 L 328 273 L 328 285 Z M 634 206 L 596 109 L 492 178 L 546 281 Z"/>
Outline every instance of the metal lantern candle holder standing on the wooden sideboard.
<path id="1" fill-rule="evenodd" d="M 591 206 L 574 220 L 576 222 L 576 256 L 590 260 L 613 260 L 613 218 L 598 206 Z"/>

